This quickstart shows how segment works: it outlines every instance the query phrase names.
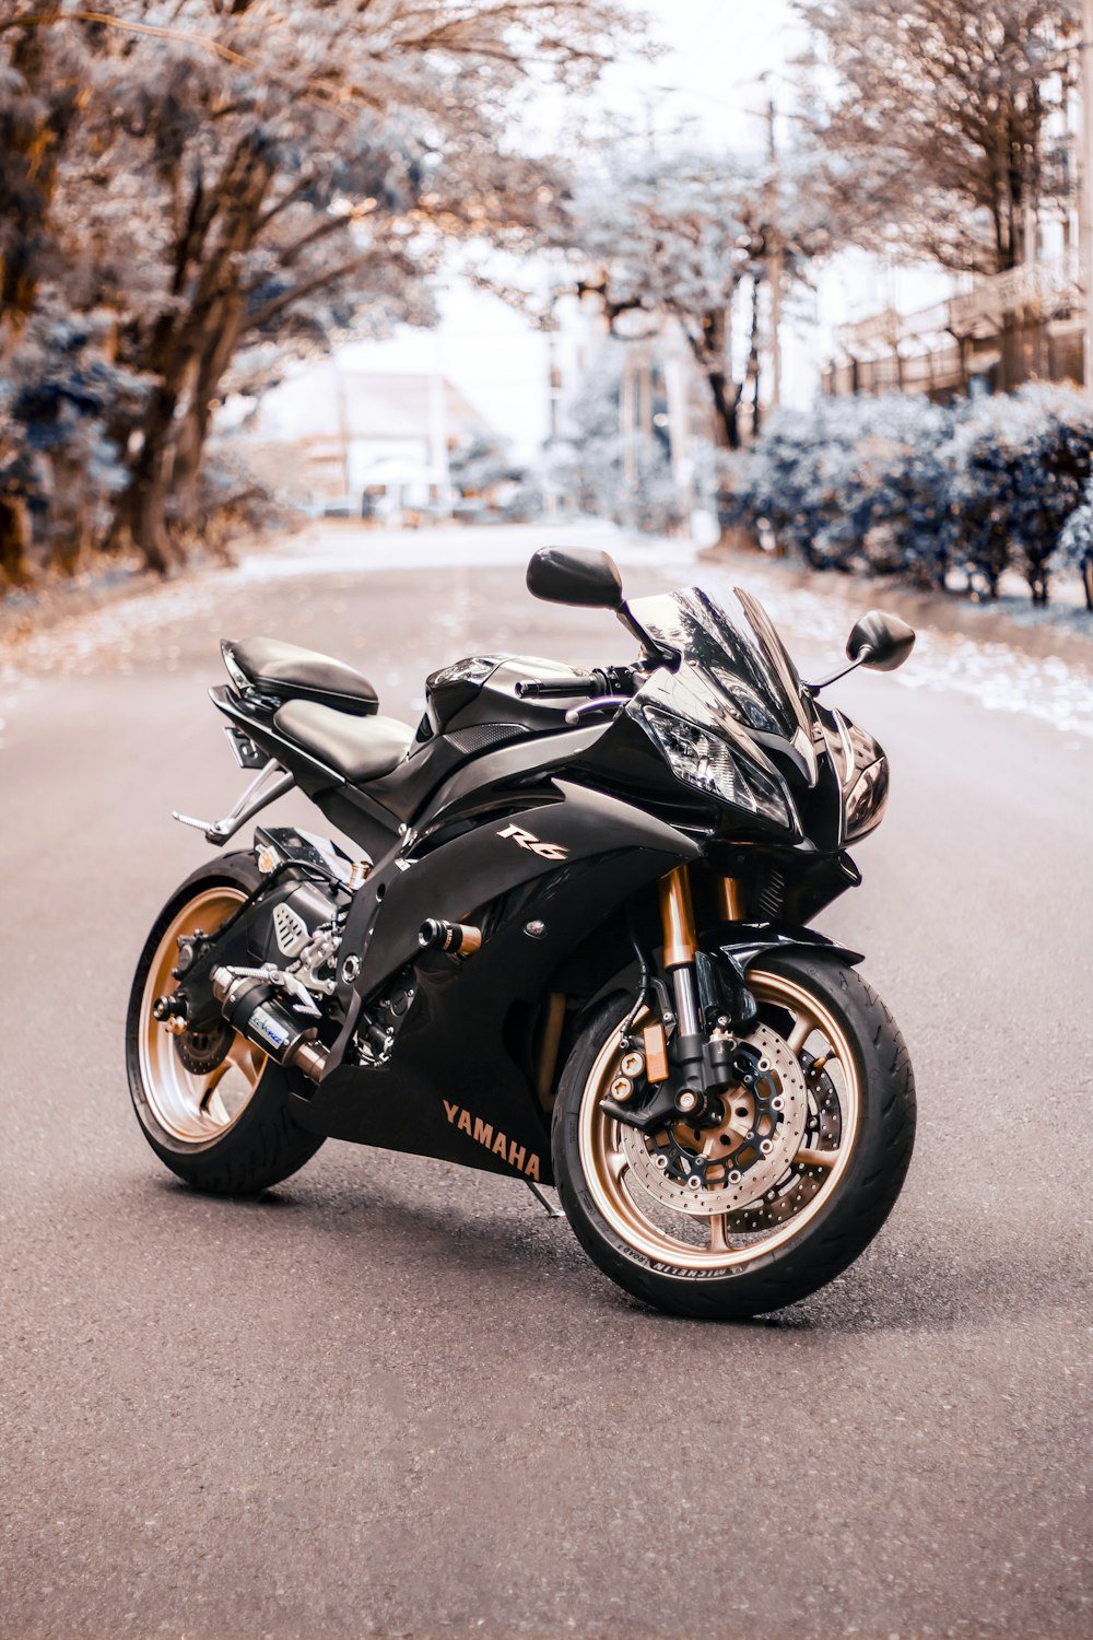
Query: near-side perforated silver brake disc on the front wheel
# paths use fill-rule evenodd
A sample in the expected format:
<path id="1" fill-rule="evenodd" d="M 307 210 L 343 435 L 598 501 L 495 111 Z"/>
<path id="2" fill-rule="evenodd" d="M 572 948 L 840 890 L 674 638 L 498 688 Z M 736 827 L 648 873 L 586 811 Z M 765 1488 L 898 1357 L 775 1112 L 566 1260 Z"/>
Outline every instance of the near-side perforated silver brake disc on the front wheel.
<path id="1" fill-rule="evenodd" d="M 621 1125 L 631 1178 L 677 1212 L 710 1217 L 777 1199 L 808 1127 L 808 1087 L 785 1038 L 757 1025 L 741 1045 L 757 1059 L 755 1089 L 719 1096 L 723 1115 L 703 1128 L 685 1120 L 647 1135 Z"/>

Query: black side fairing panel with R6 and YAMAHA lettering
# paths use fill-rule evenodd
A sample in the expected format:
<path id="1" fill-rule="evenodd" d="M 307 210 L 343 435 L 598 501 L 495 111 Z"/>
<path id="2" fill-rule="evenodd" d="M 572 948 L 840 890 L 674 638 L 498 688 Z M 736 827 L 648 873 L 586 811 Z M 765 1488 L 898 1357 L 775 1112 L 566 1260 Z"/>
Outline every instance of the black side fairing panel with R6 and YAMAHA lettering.
<path id="1" fill-rule="evenodd" d="M 385 1064 L 357 1063 L 347 1027 L 334 1050 L 341 1064 L 300 1099 L 303 1127 L 551 1181 L 526 1027 L 565 956 L 642 884 L 698 853 L 628 804 L 582 787 L 557 790 L 557 802 L 482 825 L 390 882 L 357 991 L 375 992 L 377 976 L 415 959 L 393 1051 Z M 554 856 L 501 836 L 510 825 Z M 416 932 L 426 917 L 460 920 L 485 907 L 475 956 L 421 956 Z"/>

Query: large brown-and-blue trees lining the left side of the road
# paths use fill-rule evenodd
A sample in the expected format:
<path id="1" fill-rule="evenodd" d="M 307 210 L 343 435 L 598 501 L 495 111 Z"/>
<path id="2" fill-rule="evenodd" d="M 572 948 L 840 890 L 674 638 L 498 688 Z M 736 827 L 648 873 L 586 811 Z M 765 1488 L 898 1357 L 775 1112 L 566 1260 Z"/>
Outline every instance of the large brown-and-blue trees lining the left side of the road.
<path id="1" fill-rule="evenodd" d="M 339 333 L 428 323 L 465 236 L 523 248 L 557 180 L 528 74 L 595 74 L 608 0 L 8 0 L 0 11 L 0 571 L 179 564 L 213 413 Z M 241 487 L 239 487 L 241 485 Z"/>

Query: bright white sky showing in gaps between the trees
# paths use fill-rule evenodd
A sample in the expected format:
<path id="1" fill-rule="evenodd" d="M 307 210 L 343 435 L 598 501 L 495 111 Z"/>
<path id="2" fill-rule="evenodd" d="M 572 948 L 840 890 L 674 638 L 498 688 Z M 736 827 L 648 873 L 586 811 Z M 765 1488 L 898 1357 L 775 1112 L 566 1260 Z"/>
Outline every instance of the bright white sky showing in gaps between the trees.
<path id="1" fill-rule="evenodd" d="M 628 0 L 631 3 L 631 0 Z M 808 36 L 788 0 L 644 0 L 633 3 L 654 20 L 665 44 L 655 62 L 621 57 L 587 98 L 537 97 L 526 126 L 549 139 L 559 126 L 577 130 L 618 116 L 651 133 L 693 125 L 708 146 L 759 148 L 767 98 L 788 107 L 788 64 Z M 785 133 L 785 134 L 783 134 Z M 783 121 L 782 139 L 788 136 Z M 932 290 L 908 284 L 906 274 L 878 269 L 864 257 L 841 261 L 821 279 L 816 298 L 798 303 L 783 335 L 785 397 L 808 403 L 828 353 L 831 326 L 893 302 L 916 307 Z M 546 339 L 500 300 L 451 277 L 439 292 L 442 321 L 436 331 L 401 328 L 390 341 L 344 349 L 357 369 L 441 369 L 529 458 L 547 431 Z"/>

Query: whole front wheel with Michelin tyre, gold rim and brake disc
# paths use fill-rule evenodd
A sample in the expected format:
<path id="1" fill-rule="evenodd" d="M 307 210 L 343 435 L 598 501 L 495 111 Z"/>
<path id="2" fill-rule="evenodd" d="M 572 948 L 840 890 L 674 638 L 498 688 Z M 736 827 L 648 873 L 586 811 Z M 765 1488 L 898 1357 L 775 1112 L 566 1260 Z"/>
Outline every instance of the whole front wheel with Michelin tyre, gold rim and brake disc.
<path id="1" fill-rule="evenodd" d="M 577 1040 L 554 1109 L 554 1173 L 578 1241 L 677 1315 L 760 1315 L 826 1286 L 880 1230 L 914 1145 L 906 1046 L 854 968 L 778 953 L 749 986 L 759 1087 L 726 1091 L 713 1122 L 644 1133 L 601 1109 L 623 1056 L 618 1002 Z"/>

